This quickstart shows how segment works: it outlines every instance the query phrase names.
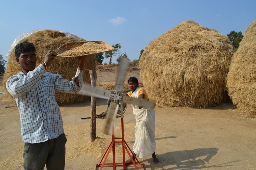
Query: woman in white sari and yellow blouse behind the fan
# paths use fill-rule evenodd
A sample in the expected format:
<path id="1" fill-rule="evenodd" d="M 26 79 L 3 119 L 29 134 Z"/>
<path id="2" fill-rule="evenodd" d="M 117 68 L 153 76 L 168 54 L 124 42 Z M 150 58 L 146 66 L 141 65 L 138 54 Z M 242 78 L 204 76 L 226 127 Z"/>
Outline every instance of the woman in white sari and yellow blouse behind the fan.
<path id="1" fill-rule="evenodd" d="M 128 85 L 130 92 L 123 94 L 129 97 L 148 100 L 146 91 L 139 87 L 139 81 L 135 77 L 130 77 L 128 79 Z M 135 141 L 133 145 L 134 155 L 139 156 L 139 158 L 145 158 L 152 154 L 153 163 L 158 163 L 156 158 L 156 141 L 155 141 L 155 110 L 142 107 L 137 105 L 132 105 L 133 114 L 135 115 L 136 125 L 135 125 Z M 135 158 L 132 156 L 133 160 Z M 126 164 L 130 164 L 131 159 L 126 161 Z"/>

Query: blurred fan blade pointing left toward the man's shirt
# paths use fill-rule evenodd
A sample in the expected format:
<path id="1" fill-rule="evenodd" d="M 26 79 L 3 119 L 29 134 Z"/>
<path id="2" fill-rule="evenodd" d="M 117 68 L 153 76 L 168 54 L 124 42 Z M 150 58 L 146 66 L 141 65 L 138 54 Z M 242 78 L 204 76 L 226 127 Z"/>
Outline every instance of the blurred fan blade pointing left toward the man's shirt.
<path id="1" fill-rule="evenodd" d="M 111 91 L 98 87 L 91 87 L 90 84 L 84 82 L 81 90 L 77 94 L 85 96 L 94 96 L 101 99 L 109 99 L 111 96 Z"/>

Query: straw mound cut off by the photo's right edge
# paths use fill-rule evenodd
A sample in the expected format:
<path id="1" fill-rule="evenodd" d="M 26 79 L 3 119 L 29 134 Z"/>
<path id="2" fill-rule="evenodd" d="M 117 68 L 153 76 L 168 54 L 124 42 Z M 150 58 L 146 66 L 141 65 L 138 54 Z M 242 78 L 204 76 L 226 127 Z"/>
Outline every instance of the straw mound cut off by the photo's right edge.
<path id="1" fill-rule="evenodd" d="M 256 20 L 245 31 L 227 75 L 227 88 L 234 105 L 256 117 Z"/>

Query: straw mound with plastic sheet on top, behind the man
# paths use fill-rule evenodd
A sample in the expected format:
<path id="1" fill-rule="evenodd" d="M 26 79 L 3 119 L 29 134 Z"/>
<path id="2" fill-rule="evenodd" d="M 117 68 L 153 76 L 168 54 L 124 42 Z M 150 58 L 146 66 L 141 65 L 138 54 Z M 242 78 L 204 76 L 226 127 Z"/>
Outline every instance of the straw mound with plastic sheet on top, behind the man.
<path id="1" fill-rule="evenodd" d="M 49 50 L 56 50 L 61 45 L 69 42 L 77 41 L 77 39 L 73 37 L 67 37 L 64 33 L 55 31 L 55 30 L 43 30 L 37 31 L 28 37 L 22 39 L 28 40 L 35 45 L 37 58 L 38 58 L 38 65 L 44 61 L 44 55 Z M 84 39 L 82 39 L 85 41 Z M 10 53 L 10 58 L 8 60 L 8 65 L 6 67 L 6 71 L 4 74 L 3 85 L 7 79 L 11 76 L 16 74 L 17 72 L 21 71 L 20 66 L 15 61 L 15 54 L 14 49 Z M 96 68 L 95 64 L 95 56 L 89 55 L 85 59 L 85 68 Z M 68 79 L 71 81 L 72 77 L 74 77 L 77 69 L 77 61 L 76 57 L 67 57 L 67 58 L 56 58 L 52 65 L 47 68 L 48 72 L 56 73 L 62 75 L 63 78 Z M 88 72 L 85 71 L 84 74 L 84 81 L 90 83 L 90 75 Z M 8 93 L 9 97 L 12 96 Z M 87 99 L 87 96 L 81 96 L 76 94 L 68 94 L 68 93 L 61 93 L 55 91 L 56 100 L 59 105 L 62 104 L 71 104 L 76 102 L 81 102 Z"/>

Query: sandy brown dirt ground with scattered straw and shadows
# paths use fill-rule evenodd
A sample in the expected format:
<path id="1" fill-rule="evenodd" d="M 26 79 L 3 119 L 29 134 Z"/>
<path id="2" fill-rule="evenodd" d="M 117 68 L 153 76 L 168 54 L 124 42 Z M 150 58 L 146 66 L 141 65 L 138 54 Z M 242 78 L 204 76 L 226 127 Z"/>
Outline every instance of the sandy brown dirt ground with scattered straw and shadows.
<path id="1" fill-rule="evenodd" d="M 116 71 L 98 71 L 97 82 L 114 82 Z M 127 77 L 139 77 L 139 71 L 129 71 Z M 1 89 L 0 89 L 1 91 Z M 0 169 L 23 169 L 23 145 L 19 114 L 12 102 L 0 95 Z M 106 110 L 105 99 L 97 99 L 97 114 Z M 90 100 L 60 106 L 66 144 L 66 169 L 96 169 L 111 142 L 104 135 L 105 119 L 97 119 L 96 140 L 90 141 Z M 210 108 L 165 107 L 156 108 L 156 155 L 140 159 L 145 169 L 256 169 L 256 120 L 245 118 L 232 103 Z M 124 113 L 124 137 L 132 149 L 135 118 L 128 104 Z M 121 137 L 121 119 L 115 120 L 115 137 Z M 122 163 L 122 147 L 116 144 L 116 162 Z M 128 158 L 126 153 L 125 159 Z M 112 150 L 106 163 L 113 163 Z M 138 165 L 139 166 L 139 165 Z M 113 169 L 113 167 L 103 167 Z M 118 166 L 117 169 L 123 169 Z M 127 169 L 135 169 L 128 166 Z M 141 169 L 141 166 L 139 166 Z"/>

